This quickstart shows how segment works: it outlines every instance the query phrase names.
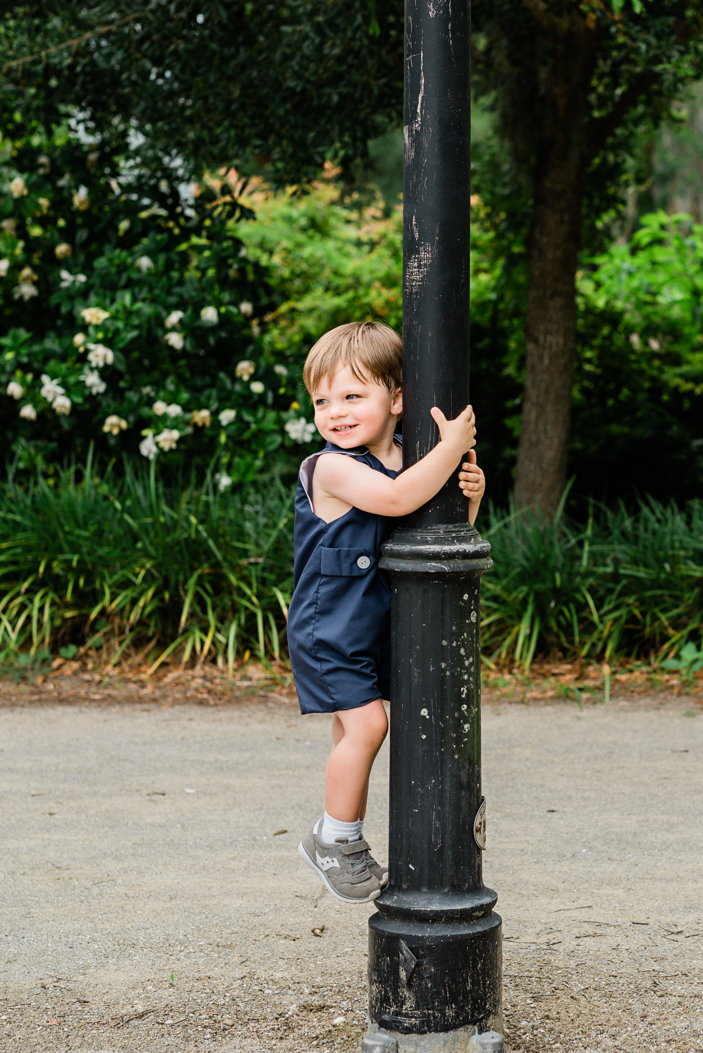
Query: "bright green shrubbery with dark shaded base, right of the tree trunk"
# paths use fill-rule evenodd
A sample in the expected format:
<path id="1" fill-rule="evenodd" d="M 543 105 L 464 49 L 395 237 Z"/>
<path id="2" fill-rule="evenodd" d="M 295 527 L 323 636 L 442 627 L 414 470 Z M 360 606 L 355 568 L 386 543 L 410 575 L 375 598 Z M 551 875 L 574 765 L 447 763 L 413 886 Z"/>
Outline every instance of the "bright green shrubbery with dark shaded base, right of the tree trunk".
<path id="1" fill-rule="evenodd" d="M 690 217 L 643 216 L 629 244 L 579 276 L 571 471 L 582 493 L 703 493 L 702 234 Z"/>

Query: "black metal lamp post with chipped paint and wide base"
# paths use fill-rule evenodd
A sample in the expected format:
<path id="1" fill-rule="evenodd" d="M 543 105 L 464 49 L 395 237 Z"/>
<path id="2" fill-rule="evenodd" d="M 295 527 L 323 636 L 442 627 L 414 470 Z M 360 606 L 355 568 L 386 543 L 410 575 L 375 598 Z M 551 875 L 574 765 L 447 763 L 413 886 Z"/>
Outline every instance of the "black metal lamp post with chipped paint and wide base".
<path id="1" fill-rule="evenodd" d="M 468 401 L 469 59 L 469 0 L 406 0 L 406 468 L 439 439 L 431 406 L 456 417 Z M 489 551 L 467 524 L 456 475 L 383 548 L 390 880 L 369 919 L 367 1047 L 386 1042 L 383 1031 L 371 1037 L 378 1029 L 401 1050 L 429 1049 L 437 1035 L 447 1051 L 502 1031 L 501 919 L 481 860 L 479 587 Z M 475 1048 L 502 1048 L 499 1034 L 485 1038 Z"/>

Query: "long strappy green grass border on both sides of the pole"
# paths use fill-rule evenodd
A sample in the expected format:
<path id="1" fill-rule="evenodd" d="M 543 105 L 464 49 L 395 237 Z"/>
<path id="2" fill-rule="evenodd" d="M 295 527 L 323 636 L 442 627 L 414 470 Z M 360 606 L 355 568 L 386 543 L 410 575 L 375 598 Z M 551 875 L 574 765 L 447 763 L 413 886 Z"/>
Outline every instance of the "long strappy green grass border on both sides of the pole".
<path id="1" fill-rule="evenodd" d="M 28 485 L 11 473 L 0 488 L 0 663 L 66 644 L 149 674 L 166 659 L 215 660 L 230 674 L 247 652 L 285 659 L 292 488 L 269 478 L 221 493 L 209 475 L 166 483 L 156 464 L 127 461 L 118 477 L 88 463 Z M 550 520 L 488 510 L 480 525 L 495 562 L 481 585 L 489 664 L 670 663 L 684 648 L 701 657 L 702 502 L 594 508 L 585 523 L 563 505 Z"/>

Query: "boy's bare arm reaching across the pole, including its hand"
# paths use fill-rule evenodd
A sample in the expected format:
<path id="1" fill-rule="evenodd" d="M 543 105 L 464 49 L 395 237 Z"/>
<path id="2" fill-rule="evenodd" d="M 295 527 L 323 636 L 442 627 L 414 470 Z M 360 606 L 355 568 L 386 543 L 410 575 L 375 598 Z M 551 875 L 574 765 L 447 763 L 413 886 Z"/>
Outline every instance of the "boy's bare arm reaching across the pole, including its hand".
<path id="1" fill-rule="evenodd" d="M 437 406 L 430 413 L 439 428 L 440 441 L 397 479 L 389 479 L 353 457 L 320 457 L 315 469 L 318 482 L 328 495 L 362 512 L 380 516 L 415 512 L 442 489 L 462 454 L 476 442 L 476 420 L 470 405 L 455 420 L 447 420 Z"/>

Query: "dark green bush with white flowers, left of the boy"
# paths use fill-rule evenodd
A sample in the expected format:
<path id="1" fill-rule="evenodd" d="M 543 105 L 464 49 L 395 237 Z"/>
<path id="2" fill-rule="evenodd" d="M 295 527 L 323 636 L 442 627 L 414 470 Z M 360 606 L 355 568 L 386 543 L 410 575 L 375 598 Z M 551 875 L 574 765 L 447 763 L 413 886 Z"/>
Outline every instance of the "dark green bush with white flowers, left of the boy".
<path id="1" fill-rule="evenodd" d="M 216 458 L 236 481 L 317 444 L 309 422 L 286 428 L 307 349 L 264 345 L 277 296 L 238 237 L 241 183 L 230 173 L 188 198 L 177 182 L 65 131 L 0 143 L 2 431 L 24 464 L 94 442 Z"/>

